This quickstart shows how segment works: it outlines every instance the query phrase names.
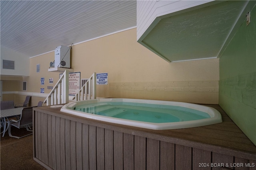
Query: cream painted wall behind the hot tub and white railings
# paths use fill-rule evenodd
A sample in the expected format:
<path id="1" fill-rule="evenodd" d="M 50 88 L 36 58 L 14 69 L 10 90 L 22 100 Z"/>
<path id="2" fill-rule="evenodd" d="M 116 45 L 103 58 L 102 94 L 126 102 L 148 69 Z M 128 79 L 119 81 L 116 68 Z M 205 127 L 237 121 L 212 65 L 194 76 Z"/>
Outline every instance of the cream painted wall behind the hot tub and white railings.
<path id="1" fill-rule="evenodd" d="M 30 59 L 30 76 L 24 78 L 29 90 L 50 92 L 48 78 L 55 84 L 59 77 L 48 72 L 53 60 L 54 52 Z M 71 66 L 81 78 L 108 72 L 108 85 L 97 85 L 97 97 L 218 104 L 219 59 L 168 63 L 136 42 L 136 29 L 74 45 Z"/>

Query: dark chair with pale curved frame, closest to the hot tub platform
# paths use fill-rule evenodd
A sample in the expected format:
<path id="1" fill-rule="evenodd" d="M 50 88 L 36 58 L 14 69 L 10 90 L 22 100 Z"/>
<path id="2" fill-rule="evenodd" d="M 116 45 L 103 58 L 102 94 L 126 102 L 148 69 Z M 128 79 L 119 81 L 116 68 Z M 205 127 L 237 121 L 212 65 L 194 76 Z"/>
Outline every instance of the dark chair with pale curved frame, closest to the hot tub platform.
<path id="1" fill-rule="evenodd" d="M 18 129 L 26 127 L 27 131 L 33 131 L 32 130 L 32 127 L 33 127 L 33 107 L 27 107 L 27 108 L 22 109 L 22 114 L 20 115 L 20 119 L 19 120 L 11 119 L 9 121 L 9 125 L 8 125 L 8 128 L 9 128 L 8 132 L 9 132 L 10 137 L 15 137 L 15 138 L 20 139 L 22 137 L 32 135 L 33 133 L 24 135 L 22 137 L 13 136 L 11 134 L 11 127 L 12 126 L 18 128 Z"/>

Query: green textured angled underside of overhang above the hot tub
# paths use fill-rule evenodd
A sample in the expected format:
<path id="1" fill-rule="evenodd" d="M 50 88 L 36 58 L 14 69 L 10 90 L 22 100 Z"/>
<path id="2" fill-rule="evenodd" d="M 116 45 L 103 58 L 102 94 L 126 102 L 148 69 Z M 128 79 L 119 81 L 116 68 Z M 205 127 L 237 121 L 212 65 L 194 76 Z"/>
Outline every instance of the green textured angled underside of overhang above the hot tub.
<path id="1" fill-rule="evenodd" d="M 248 1 L 219 1 L 157 17 L 138 42 L 168 62 L 217 58 L 240 16 L 242 21 L 246 19 L 246 4 Z"/>

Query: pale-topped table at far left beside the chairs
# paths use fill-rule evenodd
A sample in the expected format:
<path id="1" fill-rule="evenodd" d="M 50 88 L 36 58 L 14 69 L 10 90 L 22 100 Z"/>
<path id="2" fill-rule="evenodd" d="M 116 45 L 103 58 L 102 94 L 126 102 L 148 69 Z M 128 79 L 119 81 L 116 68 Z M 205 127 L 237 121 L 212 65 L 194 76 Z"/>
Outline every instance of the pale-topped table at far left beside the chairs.
<path id="1" fill-rule="evenodd" d="M 24 107 L 18 107 L 18 108 L 13 108 L 13 109 L 1 110 L 1 112 L 0 112 L 1 121 L 3 122 L 3 126 L 4 126 L 3 137 L 4 137 L 5 132 L 8 129 L 8 127 L 6 128 L 6 124 L 9 123 L 8 117 L 21 115 L 23 108 Z M 7 119 L 7 121 L 6 121 L 6 119 Z"/>

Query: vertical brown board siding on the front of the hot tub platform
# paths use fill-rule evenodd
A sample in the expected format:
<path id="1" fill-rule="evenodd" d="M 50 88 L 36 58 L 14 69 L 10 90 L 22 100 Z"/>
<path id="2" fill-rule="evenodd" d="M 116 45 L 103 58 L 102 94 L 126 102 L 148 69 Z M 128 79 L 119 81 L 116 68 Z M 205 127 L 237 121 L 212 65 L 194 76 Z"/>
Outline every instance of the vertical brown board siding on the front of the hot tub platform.
<path id="1" fill-rule="evenodd" d="M 40 112 L 34 114 L 34 157 L 46 168 L 54 170 L 252 170 L 256 165 L 253 160 L 113 131 Z M 211 163 L 215 164 L 212 166 Z"/>

